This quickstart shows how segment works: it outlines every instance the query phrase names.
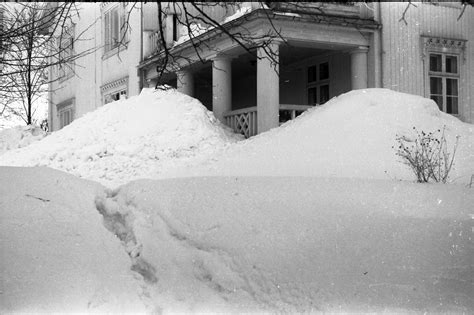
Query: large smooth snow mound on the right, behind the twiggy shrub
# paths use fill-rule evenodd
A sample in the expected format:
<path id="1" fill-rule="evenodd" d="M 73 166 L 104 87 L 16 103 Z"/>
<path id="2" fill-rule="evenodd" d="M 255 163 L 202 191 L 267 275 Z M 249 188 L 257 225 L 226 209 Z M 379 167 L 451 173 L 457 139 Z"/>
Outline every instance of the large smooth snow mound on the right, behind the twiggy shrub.
<path id="1" fill-rule="evenodd" d="M 449 149 L 460 136 L 451 180 L 474 174 L 474 126 L 438 110 L 429 99 L 387 89 L 345 93 L 280 128 L 239 142 L 198 168 L 175 176 L 317 176 L 415 180 L 400 163 L 397 135 L 413 137 L 446 126 Z"/>

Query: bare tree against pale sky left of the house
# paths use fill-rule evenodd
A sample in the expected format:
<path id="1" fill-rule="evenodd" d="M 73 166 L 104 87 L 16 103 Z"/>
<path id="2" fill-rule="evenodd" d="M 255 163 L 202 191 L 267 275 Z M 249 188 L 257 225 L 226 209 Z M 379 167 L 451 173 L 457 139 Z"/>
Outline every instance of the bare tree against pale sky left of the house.
<path id="1" fill-rule="evenodd" d="M 49 71 L 57 66 L 73 71 L 74 60 L 97 48 L 74 52 L 73 17 L 79 14 L 74 3 L 4 4 L 0 34 L 0 114 L 16 116 L 25 124 L 36 123 L 40 98 L 51 83 Z"/>

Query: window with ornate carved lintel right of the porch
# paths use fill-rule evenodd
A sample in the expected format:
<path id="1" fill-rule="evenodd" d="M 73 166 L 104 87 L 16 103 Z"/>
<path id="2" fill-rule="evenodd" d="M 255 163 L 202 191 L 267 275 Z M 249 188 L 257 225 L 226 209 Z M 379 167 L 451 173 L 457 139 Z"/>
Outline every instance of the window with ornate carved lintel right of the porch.
<path id="1" fill-rule="evenodd" d="M 425 96 L 439 109 L 459 115 L 461 71 L 465 61 L 466 40 L 421 36 L 425 67 Z"/>

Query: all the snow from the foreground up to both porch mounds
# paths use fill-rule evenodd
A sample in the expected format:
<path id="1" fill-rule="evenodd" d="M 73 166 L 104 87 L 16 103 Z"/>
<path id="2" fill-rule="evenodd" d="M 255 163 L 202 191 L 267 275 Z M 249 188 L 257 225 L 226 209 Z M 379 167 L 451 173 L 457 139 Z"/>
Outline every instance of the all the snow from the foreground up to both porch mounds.
<path id="1" fill-rule="evenodd" d="M 396 136 L 444 126 L 450 184 L 414 183 Z M 474 312 L 473 125 L 367 89 L 239 139 L 146 90 L 1 155 L 109 188 L 0 167 L 0 312 Z"/>

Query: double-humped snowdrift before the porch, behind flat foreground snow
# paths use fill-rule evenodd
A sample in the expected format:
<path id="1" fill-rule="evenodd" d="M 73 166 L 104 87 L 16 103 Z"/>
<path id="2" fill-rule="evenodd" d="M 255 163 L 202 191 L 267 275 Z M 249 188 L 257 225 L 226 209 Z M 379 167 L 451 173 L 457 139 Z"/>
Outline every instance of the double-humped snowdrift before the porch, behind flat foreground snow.
<path id="1" fill-rule="evenodd" d="M 415 180 L 396 155 L 397 136 L 446 127 L 460 136 L 450 182 L 474 174 L 474 126 L 429 99 L 387 89 L 352 91 L 280 128 L 240 141 L 197 100 L 144 90 L 108 104 L 0 165 L 46 165 L 115 186 L 139 178 L 206 175 L 317 176 Z"/>

